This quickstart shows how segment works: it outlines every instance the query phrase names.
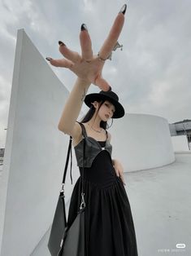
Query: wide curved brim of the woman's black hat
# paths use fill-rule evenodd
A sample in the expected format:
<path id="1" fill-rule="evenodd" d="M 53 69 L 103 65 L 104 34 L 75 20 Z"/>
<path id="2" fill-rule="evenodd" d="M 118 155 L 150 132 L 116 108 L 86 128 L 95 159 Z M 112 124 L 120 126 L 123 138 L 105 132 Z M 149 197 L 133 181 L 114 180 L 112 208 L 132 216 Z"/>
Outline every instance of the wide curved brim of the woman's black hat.
<path id="1" fill-rule="evenodd" d="M 120 117 L 124 117 L 124 107 L 122 106 L 122 104 L 119 104 L 118 101 L 116 101 L 115 99 L 109 97 L 108 95 L 101 95 L 99 93 L 92 93 L 89 95 L 85 96 L 85 104 L 91 108 L 92 103 L 94 100 L 108 100 L 111 102 L 111 104 L 113 104 L 115 106 L 115 113 L 113 114 L 112 118 L 120 118 Z"/>

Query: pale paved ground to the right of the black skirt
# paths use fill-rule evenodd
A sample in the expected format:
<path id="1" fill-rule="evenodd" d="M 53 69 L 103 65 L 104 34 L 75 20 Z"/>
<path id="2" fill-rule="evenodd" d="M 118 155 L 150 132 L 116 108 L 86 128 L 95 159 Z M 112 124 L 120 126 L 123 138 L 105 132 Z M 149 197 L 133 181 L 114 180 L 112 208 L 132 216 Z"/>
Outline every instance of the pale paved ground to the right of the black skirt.
<path id="1" fill-rule="evenodd" d="M 171 165 L 124 177 L 139 256 L 190 256 L 191 154 L 176 153 Z"/>

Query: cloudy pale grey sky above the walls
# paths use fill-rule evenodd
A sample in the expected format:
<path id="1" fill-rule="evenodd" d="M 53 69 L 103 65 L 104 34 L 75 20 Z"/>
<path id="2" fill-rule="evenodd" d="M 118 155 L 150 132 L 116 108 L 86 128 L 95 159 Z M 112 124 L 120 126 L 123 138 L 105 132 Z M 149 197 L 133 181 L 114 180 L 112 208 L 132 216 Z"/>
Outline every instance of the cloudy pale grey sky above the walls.
<path id="1" fill-rule="evenodd" d="M 57 59 L 63 57 L 59 40 L 80 53 L 85 23 L 97 54 L 124 3 L 123 51 L 113 51 L 112 60 L 106 60 L 103 77 L 126 113 L 156 115 L 169 123 L 191 118 L 190 0 L 1 0 L 0 148 L 6 142 L 17 30 L 24 29 L 42 56 Z M 51 68 L 72 90 L 76 75 Z M 89 93 L 98 91 L 98 86 L 89 88 Z"/>

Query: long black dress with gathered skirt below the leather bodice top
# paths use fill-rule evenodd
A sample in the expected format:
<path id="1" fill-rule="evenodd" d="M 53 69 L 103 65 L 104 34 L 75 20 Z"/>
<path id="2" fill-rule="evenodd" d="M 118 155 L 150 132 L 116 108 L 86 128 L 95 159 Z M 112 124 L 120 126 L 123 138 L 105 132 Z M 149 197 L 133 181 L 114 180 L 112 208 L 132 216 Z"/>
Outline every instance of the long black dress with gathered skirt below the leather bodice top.
<path id="1" fill-rule="evenodd" d="M 106 142 L 95 141 L 104 147 Z M 72 191 L 67 223 L 76 218 L 80 206 L 81 174 Z M 85 256 L 137 256 L 137 241 L 131 207 L 124 183 L 116 175 L 111 156 L 98 153 L 85 167 Z"/>

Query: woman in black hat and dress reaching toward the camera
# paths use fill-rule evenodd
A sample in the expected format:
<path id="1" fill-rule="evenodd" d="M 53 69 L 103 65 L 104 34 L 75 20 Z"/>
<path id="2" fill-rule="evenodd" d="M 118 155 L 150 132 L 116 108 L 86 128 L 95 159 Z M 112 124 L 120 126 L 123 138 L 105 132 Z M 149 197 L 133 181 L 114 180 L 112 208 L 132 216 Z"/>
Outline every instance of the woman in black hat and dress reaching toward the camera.
<path id="1" fill-rule="evenodd" d="M 119 38 L 127 6 L 119 11 L 111 32 L 98 55 L 93 55 L 91 40 L 85 24 L 80 31 L 81 55 L 59 41 L 62 60 L 46 58 L 50 64 L 69 68 L 76 73 L 76 83 L 63 108 L 59 130 L 71 135 L 80 169 L 74 186 L 67 224 L 76 218 L 80 205 L 82 171 L 82 135 L 85 136 L 85 256 L 137 256 L 137 241 L 131 208 L 124 189 L 123 167 L 111 159 L 111 134 L 107 121 L 124 116 L 124 108 L 111 86 L 102 77 L 105 60 Z M 109 56 L 109 57 L 108 57 Z M 98 86 L 99 93 L 86 95 L 89 86 Z M 76 121 L 85 101 L 89 112 L 81 122 Z"/>

